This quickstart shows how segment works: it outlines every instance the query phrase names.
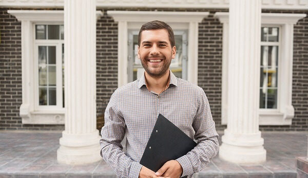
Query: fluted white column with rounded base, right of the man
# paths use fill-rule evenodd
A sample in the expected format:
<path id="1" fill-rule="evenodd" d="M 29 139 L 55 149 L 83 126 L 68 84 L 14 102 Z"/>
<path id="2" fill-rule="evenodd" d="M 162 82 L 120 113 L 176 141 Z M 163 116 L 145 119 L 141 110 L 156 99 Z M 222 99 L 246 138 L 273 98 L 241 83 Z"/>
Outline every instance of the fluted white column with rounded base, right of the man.
<path id="1" fill-rule="evenodd" d="M 228 113 L 219 157 L 245 164 L 266 160 L 259 131 L 261 1 L 230 0 Z"/>

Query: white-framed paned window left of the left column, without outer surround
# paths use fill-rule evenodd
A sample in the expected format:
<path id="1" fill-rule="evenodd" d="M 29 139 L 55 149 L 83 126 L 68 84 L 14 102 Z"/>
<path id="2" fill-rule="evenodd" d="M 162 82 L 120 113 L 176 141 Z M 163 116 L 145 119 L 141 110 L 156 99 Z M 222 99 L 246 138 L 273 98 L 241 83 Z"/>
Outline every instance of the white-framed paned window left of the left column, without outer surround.
<path id="1" fill-rule="evenodd" d="M 64 27 L 35 26 L 35 62 L 37 64 L 36 110 L 64 107 Z M 45 108 L 44 108 L 45 107 Z"/>

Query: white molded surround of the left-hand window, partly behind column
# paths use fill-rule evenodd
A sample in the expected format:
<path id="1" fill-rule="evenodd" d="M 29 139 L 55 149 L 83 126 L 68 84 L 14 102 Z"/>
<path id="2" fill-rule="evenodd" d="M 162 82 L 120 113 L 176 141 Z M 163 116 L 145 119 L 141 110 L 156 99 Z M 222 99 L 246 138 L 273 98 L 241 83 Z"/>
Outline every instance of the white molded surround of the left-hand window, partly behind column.
<path id="1" fill-rule="evenodd" d="M 11 1 L 10 1 L 11 2 Z M 24 1 L 22 1 L 24 2 Z M 22 104 L 20 116 L 23 124 L 64 124 L 64 108 L 50 107 L 35 110 L 34 30 L 36 23 L 63 24 L 63 10 L 8 10 L 22 22 Z M 102 12 L 97 11 L 97 17 Z"/>

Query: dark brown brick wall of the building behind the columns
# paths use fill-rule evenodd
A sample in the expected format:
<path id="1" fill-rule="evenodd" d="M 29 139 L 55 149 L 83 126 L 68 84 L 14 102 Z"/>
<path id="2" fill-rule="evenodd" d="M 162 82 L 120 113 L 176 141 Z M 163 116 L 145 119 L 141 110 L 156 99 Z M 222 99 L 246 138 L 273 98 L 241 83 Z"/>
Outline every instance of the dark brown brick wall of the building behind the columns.
<path id="1" fill-rule="evenodd" d="M 111 94 L 118 86 L 118 24 L 107 10 L 155 10 L 149 8 L 98 9 L 97 22 L 97 115 L 102 115 Z M 198 83 L 205 91 L 218 130 L 221 125 L 222 24 L 214 18 L 222 9 L 157 9 L 158 11 L 208 11 L 199 24 Z M 1 129 L 63 129 L 56 125 L 23 125 L 19 117 L 21 96 L 21 24 L 0 9 L 0 109 Z M 308 13 L 308 11 L 263 11 Z M 291 126 L 260 126 L 260 130 L 306 130 L 308 124 L 308 17 L 294 26 L 293 97 L 295 118 Z M 123 59 L 125 60 L 125 59 Z M 189 71 L 188 71 L 189 72 Z"/>

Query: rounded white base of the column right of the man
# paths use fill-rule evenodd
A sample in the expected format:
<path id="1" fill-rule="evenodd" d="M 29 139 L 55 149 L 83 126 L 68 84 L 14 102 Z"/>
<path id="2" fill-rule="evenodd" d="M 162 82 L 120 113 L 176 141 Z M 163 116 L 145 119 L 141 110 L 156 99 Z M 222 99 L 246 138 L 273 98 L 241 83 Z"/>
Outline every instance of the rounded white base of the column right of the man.
<path id="1" fill-rule="evenodd" d="M 259 164 L 266 161 L 261 132 L 234 134 L 225 129 L 219 158 L 237 164 Z"/>

